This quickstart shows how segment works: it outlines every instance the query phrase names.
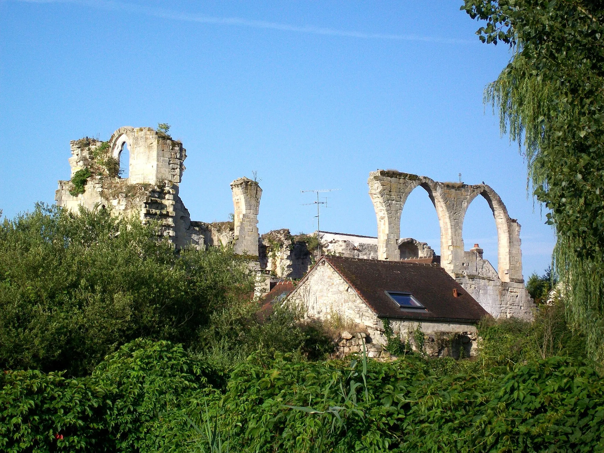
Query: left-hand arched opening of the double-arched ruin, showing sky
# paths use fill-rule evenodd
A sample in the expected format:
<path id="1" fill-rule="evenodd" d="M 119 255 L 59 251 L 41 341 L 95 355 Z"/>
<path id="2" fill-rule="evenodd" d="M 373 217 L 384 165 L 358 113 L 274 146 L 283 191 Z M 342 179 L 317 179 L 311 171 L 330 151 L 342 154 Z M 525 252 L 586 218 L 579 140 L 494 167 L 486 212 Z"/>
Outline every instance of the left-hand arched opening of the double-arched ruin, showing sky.
<path id="1" fill-rule="evenodd" d="M 413 237 L 419 242 L 426 242 L 435 254 L 440 255 L 439 216 L 423 187 L 416 187 L 405 201 L 400 216 L 400 237 Z M 400 244 L 399 250 L 401 259 L 411 258 L 411 253 L 417 257 L 419 253 L 417 245 L 410 242 Z"/>

